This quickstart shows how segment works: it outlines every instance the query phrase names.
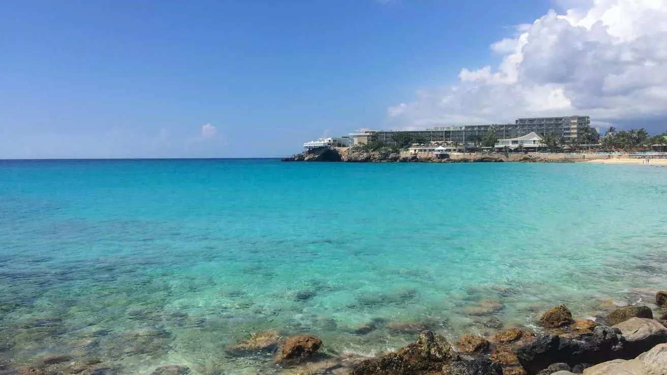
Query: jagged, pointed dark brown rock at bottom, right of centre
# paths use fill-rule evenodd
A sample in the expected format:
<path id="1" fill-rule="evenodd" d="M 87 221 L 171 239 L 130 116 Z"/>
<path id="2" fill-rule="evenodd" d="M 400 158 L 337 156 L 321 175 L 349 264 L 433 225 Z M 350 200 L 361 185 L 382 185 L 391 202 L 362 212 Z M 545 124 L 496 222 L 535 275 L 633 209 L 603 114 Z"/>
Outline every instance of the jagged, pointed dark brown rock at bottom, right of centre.
<path id="1" fill-rule="evenodd" d="M 414 374 L 419 371 L 440 371 L 446 364 L 459 360 L 447 339 L 431 331 L 421 332 L 419 338 L 396 353 L 364 360 L 356 366 L 354 375 Z"/>

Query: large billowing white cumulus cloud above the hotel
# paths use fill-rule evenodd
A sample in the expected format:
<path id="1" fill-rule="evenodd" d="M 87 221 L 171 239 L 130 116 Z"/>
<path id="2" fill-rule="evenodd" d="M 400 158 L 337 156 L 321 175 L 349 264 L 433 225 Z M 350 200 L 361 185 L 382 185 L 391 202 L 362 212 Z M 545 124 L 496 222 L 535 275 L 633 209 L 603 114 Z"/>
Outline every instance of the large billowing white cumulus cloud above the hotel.
<path id="1" fill-rule="evenodd" d="M 600 124 L 667 114 L 667 0 L 568 0 L 491 45 L 499 65 L 388 109 L 400 127 L 588 114 Z"/>

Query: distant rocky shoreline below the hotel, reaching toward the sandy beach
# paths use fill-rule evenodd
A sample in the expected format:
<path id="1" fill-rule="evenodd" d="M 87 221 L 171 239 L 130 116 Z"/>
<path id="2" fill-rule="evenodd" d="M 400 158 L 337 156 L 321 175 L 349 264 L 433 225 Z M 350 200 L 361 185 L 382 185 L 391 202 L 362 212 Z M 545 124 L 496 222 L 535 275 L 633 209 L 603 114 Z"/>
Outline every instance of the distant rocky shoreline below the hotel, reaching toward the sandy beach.
<path id="1" fill-rule="evenodd" d="M 519 162 L 550 162 L 550 163 L 572 163 L 572 159 L 548 159 L 535 155 L 513 155 L 508 158 L 502 155 L 487 155 L 484 153 L 473 153 L 466 155 L 457 155 L 457 157 L 448 157 L 438 159 L 436 157 L 420 157 L 418 155 L 401 155 L 400 153 L 363 151 L 354 147 L 328 147 L 319 149 L 309 149 L 301 153 L 296 153 L 290 157 L 283 157 L 281 161 L 342 161 L 348 163 L 383 163 L 383 162 L 422 162 L 422 163 L 498 163 L 503 161 Z"/>

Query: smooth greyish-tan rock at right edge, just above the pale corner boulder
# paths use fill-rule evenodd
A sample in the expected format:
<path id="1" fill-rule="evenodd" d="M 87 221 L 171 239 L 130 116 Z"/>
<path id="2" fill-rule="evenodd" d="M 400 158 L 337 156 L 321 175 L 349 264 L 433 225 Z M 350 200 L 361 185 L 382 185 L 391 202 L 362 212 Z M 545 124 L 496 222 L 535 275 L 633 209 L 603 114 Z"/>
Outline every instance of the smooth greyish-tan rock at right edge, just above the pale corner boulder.
<path id="1" fill-rule="evenodd" d="M 630 318 L 616 324 L 623 334 L 626 344 L 626 358 L 632 358 L 658 344 L 667 342 L 667 328 L 656 320 Z"/>

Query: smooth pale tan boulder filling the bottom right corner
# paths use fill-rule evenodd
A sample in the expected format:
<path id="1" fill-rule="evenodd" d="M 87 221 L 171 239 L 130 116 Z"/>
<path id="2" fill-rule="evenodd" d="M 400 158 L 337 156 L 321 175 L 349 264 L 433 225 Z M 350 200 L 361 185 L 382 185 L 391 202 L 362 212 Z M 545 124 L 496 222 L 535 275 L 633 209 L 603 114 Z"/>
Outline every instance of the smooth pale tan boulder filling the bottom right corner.
<path id="1" fill-rule="evenodd" d="M 611 360 L 586 368 L 584 375 L 667 375 L 667 344 L 655 346 L 634 360 Z"/>

